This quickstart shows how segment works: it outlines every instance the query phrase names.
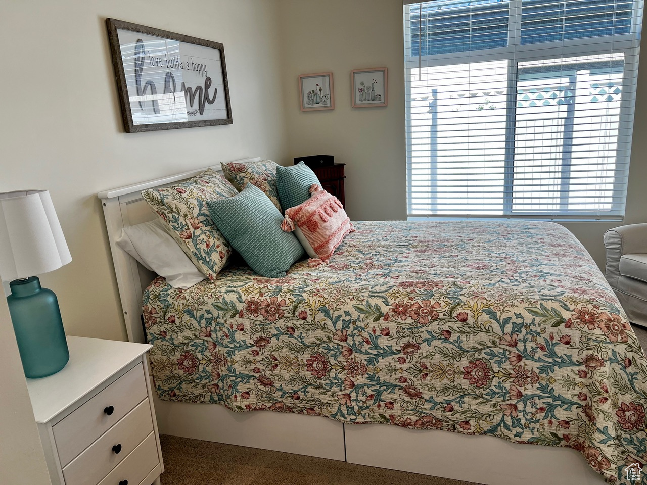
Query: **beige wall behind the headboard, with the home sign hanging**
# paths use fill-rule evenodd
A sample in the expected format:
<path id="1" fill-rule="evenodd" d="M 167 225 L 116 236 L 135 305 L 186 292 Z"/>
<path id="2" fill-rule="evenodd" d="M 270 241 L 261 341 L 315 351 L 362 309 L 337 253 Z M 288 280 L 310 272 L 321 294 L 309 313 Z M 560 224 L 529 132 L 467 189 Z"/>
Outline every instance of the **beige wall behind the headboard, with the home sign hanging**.
<path id="1" fill-rule="evenodd" d="M 225 45 L 233 125 L 124 133 L 104 19 Z M 49 189 L 72 263 L 42 275 L 68 334 L 122 339 L 101 190 L 243 156 L 285 158 L 273 0 L 3 1 L 0 191 Z"/>

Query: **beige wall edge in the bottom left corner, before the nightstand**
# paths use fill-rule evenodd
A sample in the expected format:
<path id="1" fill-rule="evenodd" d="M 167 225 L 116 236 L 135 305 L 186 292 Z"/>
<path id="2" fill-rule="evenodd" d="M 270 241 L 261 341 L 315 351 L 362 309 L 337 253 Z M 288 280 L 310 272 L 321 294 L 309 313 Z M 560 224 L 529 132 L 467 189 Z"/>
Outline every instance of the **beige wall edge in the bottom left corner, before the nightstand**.
<path id="1" fill-rule="evenodd" d="M 6 300 L 0 296 L 0 482 L 49 485 Z"/>

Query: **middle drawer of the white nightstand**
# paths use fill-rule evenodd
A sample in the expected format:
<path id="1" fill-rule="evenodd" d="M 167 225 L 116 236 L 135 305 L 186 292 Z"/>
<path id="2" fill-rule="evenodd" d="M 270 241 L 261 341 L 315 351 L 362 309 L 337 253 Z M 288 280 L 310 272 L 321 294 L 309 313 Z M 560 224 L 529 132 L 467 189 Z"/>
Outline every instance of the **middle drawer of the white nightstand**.
<path id="1" fill-rule="evenodd" d="M 65 485 L 98 483 L 151 431 L 153 420 L 147 398 L 63 468 Z M 118 446 L 118 450 L 114 450 L 114 446 Z"/>

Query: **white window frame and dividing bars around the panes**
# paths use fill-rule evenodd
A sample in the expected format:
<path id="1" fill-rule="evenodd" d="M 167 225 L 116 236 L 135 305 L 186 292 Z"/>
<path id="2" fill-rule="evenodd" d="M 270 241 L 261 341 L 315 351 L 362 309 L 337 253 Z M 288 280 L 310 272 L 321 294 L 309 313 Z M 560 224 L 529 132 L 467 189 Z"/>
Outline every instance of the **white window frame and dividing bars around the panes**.
<path id="1" fill-rule="evenodd" d="M 406 167 L 407 167 L 407 215 L 409 220 L 434 219 L 434 220 L 492 220 L 492 219 L 539 219 L 543 221 L 622 221 L 626 209 L 626 189 L 628 185 L 628 166 L 631 155 L 631 135 L 633 131 L 633 111 L 635 107 L 635 96 L 637 89 L 642 3 L 639 11 L 631 16 L 631 31 L 629 34 L 617 34 L 592 38 L 569 39 L 565 41 L 549 41 L 545 43 L 521 44 L 521 6 L 523 0 L 509 0 L 509 22 L 508 22 L 508 45 L 507 47 L 496 47 L 483 50 L 466 50 L 463 52 L 451 52 L 446 54 L 432 54 L 427 56 L 410 56 L 410 42 L 406 36 L 411 25 L 411 4 L 404 5 L 404 91 L 405 91 L 405 116 L 406 116 Z M 421 2 L 421 14 L 422 14 Z M 419 48 L 419 52 L 422 49 Z M 623 96 L 620 101 L 619 125 L 630 123 L 632 129 L 620 129 L 617 138 L 619 146 L 626 146 L 624 155 L 617 156 L 614 175 L 614 193 L 620 188 L 624 194 L 619 206 L 615 202 L 609 215 L 601 215 L 600 210 L 593 211 L 567 211 L 566 213 L 524 213 L 513 211 L 513 190 L 514 190 L 514 142 L 516 127 L 516 93 L 518 81 L 518 64 L 527 61 L 547 61 L 559 58 L 571 58 L 577 56 L 592 56 L 596 54 L 624 54 L 624 72 L 622 76 Z M 422 63 L 426 66 L 442 67 L 444 65 L 457 65 L 485 61 L 508 61 L 507 70 L 507 102 L 506 102 L 506 136 L 505 136 L 505 160 L 504 160 L 504 202 L 503 215 L 488 214 L 413 214 L 410 191 L 412 186 L 411 154 L 413 146 L 412 119 L 411 119 L 411 72 L 421 69 Z M 432 115 L 433 116 L 433 115 Z M 431 169 L 433 174 L 433 167 Z M 437 179 L 430 178 L 432 184 Z M 433 194 L 433 190 L 430 192 Z M 430 206 L 433 203 L 432 196 Z M 433 209 L 432 209 L 433 210 Z"/>

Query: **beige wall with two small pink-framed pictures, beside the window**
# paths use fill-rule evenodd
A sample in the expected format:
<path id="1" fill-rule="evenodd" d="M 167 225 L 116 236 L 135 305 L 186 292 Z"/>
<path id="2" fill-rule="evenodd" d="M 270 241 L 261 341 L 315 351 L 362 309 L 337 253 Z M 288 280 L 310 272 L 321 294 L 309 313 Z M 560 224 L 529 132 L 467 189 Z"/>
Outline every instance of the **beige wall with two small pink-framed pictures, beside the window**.
<path id="1" fill-rule="evenodd" d="M 402 1 L 280 6 L 288 156 L 324 153 L 345 163 L 351 219 L 406 219 Z M 389 104 L 353 108 L 351 70 L 371 67 L 389 69 Z M 334 74 L 334 110 L 300 111 L 299 74 L 325 71 Z"/>

